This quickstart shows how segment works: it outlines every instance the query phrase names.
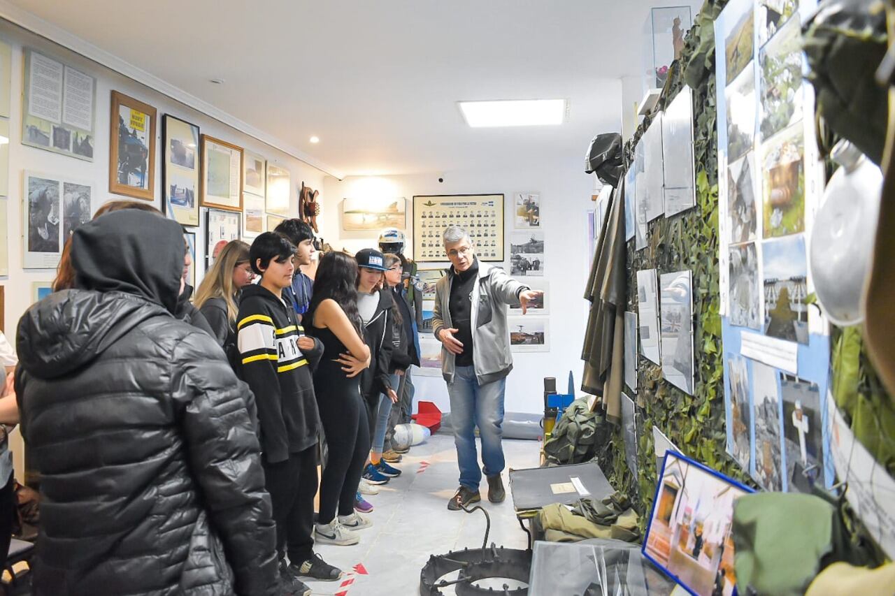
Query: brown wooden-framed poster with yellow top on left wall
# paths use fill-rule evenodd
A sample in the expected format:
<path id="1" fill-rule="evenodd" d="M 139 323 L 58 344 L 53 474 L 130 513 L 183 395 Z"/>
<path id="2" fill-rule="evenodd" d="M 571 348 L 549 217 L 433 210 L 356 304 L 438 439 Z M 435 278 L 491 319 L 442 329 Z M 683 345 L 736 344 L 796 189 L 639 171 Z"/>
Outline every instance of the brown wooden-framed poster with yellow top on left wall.
<path id="1" fill-rule="evenodd" d="M 156 108 L 112 91 L 109 124 L 109 192 L 154 200 Z"/>

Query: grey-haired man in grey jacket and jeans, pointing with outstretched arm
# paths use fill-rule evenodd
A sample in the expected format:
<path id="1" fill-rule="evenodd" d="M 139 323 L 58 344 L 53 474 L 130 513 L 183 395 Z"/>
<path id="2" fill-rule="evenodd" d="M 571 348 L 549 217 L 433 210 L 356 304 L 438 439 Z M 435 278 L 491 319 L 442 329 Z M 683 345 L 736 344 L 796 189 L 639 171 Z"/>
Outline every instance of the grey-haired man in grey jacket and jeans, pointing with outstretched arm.
<path id="1" fill-rule="evenodd" d="M 475 258 L 473 243 L 462 227 L 449 226 L 445 252 L 453 267 L 435 287 L 432 333 L 442 344 L 441 372 L 450 396 L 460 488 L 447 503 L 456 511 L 482 500 L 482 470 L 475 449 L 475 426 L 482 438 L 482 464 L 488 478 L 488 500 L 506 497 L 500 425 L 504 416 L 507 375 L 513 370 L 507 330 L 507 304 L 520 304 L 523 314 L 535 292 Z"/>

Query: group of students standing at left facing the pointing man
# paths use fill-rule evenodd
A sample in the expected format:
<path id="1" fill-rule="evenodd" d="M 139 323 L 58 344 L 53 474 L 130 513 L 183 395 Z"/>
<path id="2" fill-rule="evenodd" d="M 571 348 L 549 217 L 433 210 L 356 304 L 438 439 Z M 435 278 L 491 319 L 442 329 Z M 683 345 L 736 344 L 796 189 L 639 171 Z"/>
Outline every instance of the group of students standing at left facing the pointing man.
<path id="1" fill-rule="evenodd" d="M 42 494 L 34 593 L 305 595 L 303 579 L 337 580 L 315 541 L 357 543 L 361 490 L 400 474 L 384 443 L 419 362 L 405 260 L 330 251 L 311 284 L 311 228 L 286 220 L 228 243 L 191 303 L 180 226 L 108 205 L 17 333 Z"/>

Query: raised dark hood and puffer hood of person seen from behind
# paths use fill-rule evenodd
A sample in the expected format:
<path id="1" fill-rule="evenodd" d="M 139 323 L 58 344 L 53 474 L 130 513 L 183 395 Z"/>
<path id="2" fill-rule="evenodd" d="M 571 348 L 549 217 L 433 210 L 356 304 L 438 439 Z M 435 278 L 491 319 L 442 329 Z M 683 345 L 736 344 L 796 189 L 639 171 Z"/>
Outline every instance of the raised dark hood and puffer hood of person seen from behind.
<path id="1" fill-rule="evenodd" d="M 76 289 L 51 294 L 19 321 L 19 362 L 40 379 L 80 368 L 141 321 L 175 311 L 183 232 L 152 213 L 114 211 L 75 231 L 72 266 Z"/>

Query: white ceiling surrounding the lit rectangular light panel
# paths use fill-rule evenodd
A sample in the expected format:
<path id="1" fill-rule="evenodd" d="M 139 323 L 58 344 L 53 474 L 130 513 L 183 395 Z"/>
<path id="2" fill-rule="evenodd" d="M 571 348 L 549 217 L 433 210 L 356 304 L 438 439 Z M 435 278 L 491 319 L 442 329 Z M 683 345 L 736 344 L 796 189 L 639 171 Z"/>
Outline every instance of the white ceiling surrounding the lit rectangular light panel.
<path id="1" fill-rule="evenodd" d="M 372 175 L 583 164 L 594 134 L 620 130 L 619 78 L 641 69 L 650 7 L 700 2 L 8 4 L 346 175 Z M 570 117 L 558 127 L 470 129 L 456 107 L 503 98 L 567 98 Z"/>

